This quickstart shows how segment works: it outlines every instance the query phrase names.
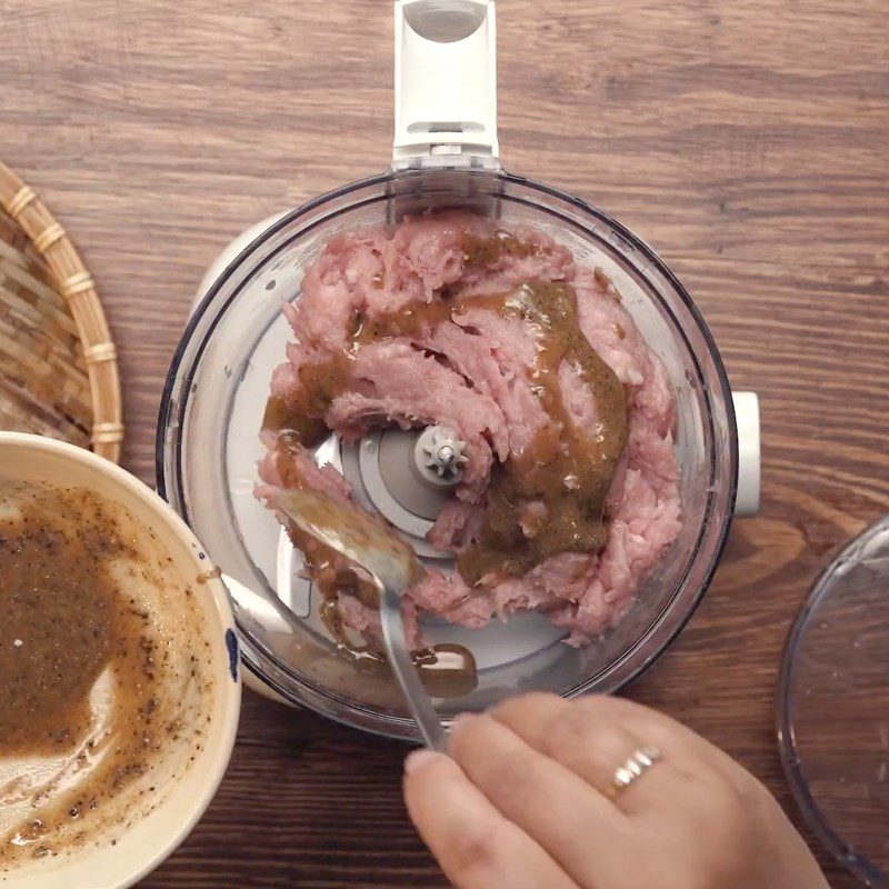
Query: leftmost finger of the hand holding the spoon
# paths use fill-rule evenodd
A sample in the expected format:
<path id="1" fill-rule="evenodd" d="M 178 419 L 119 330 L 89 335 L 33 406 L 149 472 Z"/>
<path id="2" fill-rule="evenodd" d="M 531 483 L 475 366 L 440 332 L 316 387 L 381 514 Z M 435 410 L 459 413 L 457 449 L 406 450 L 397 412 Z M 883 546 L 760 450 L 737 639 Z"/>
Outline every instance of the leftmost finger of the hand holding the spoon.
<path id="1" fill-rule="evenodd" d="M 408 757 L 404 801 L 423 841 L 458 889 L 578 889 L 442 753 L 418 750 Z"/>

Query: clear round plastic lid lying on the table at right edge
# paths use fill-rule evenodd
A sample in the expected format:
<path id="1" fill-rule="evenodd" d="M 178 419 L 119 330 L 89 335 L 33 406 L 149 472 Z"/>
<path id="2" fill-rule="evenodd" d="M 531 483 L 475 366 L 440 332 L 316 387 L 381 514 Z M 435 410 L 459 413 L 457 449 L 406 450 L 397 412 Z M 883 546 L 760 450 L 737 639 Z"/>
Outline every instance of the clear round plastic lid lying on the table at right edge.
<path id="1" fill-rule="evenodd" d="M 889 517 L 843 549 L 797 618 L 778 740 L 821 840 L 863 886 L 889 886 Z"/>

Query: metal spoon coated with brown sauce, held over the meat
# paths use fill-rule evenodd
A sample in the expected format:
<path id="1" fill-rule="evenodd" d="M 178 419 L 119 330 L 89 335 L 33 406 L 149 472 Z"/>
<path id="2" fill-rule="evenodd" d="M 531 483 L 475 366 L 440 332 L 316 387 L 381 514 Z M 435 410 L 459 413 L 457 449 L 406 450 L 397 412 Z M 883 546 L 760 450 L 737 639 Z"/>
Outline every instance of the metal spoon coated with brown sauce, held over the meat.
<path id="1" fill-rule="evenodd" d="M 292 489 L 278 493 L 274 505 L 300 530 L 374 577 L 380 587 L 380 622 L 389 665 L 427 747 L 446 752 L 444 728 L 404 642 L 401 597 L 423 571 L 413 550 L 382 521 L 354 503 L 340 503 L 313 491 Z"/>

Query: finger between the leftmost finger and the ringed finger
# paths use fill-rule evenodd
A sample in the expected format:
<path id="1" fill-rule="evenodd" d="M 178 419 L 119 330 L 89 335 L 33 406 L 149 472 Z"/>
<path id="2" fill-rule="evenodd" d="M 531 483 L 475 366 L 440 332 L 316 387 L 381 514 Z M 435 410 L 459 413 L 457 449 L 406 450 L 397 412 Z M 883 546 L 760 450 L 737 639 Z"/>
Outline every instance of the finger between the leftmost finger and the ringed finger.
<path id="1" fill-rule="evenodd" d="M 626 866 L 630 823 L 593 787 L 490 716 L 463 717 L 450 751 L 467 778 L 583 886 Z M 580 838 L 580 839 L 579 839 Z"/>

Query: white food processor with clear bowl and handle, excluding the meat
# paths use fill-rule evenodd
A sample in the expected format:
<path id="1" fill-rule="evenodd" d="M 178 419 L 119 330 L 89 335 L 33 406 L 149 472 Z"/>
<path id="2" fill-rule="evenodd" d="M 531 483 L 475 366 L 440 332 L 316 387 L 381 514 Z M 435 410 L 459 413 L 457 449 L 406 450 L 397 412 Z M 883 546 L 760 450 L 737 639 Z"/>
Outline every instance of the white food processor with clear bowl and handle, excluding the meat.
<path id="1" fill-rule="evenodd" d="M 676 392 L 685 523 L 635 606 L 583 648 L 566 645 L 539 613 L 481 630 L 424 619 L 431 642 L 466 646 L 476 660 L 475 688 L 436 698 L 446 721 L 523 691 L 613 691 L 650 665 L 703 596 L 732 515 L 758 509 L 759 426 L 756 396 L 732 398 L 707 326 L 653 250 L 580 198 L 502 169 L 492 0 L 400 0 L 394 13 L 391 167 L 258 223 L 210 269 L 167 379 L 157 479 L 223 571 L 251 683 L 351 726 L 416 739 L 388 669 L 338 648 L 319 616 L 321 597 L 300 573 L 301 553 L 253 496 L 271 372 L 292 338 L 281 303 L 299 299 L 303 271 L 331 238 L 451 207 L 535 227 L 608 276 Z M 416 497 L 422 479 L 413 471 L 418 455 L 442 442 L 430 432 L 420 444 L 422 433 L 376 429 L 354 446 L 331 434 L 316 459 L 339 469 L 421 559 L 447 569 L 426 542 L 434 516 L 429 498 Z"/>

